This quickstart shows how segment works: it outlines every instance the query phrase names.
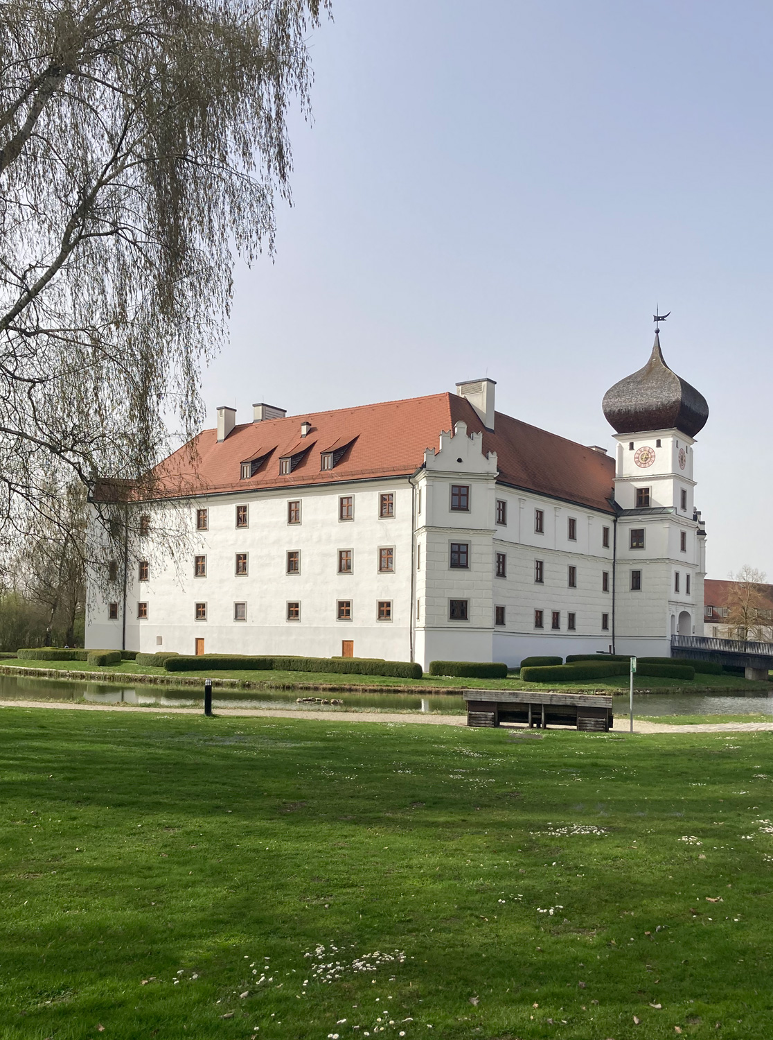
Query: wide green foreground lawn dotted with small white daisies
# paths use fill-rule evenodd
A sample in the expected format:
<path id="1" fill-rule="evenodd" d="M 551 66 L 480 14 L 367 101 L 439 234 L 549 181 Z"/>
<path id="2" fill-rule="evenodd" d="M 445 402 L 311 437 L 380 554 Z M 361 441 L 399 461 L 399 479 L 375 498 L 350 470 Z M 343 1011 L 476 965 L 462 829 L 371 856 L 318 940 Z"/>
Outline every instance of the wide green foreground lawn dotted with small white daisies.
<path id="1" fill-rule="evenodd" d="M 769 1038 L 771 751 L 2 709 L 0 1037 Z"/>

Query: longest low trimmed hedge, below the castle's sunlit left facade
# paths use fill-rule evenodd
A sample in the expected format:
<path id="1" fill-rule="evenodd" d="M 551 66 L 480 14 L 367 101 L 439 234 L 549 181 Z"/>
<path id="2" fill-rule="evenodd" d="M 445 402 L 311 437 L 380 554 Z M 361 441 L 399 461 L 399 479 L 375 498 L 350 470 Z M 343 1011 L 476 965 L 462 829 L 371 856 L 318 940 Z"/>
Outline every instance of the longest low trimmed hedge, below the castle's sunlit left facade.
<path id="1" fill-rule="evenodd" d="M 407 660 L 374 660 L 369 657 L 268 657 L 246 654 L 201 654 L 196 657 L 180 654 L 169 656 L 164 661 L 164 668 L 167 672 L 332 672 L 343 675 L 389 675 L 404 679 L 422 677 L 421 665 Z"/>

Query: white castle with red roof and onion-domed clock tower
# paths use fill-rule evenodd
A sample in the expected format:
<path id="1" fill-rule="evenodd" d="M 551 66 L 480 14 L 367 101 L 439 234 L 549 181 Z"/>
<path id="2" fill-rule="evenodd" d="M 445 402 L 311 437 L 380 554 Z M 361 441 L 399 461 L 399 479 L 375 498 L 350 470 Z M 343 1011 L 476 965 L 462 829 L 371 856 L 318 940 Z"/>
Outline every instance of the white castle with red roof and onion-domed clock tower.
<path id="1" fill-rule="evenodd" d="M 86 646 L 424 667 L 667 655 L 672 633 L 703 630 L 693 445 L 709 409 L 656 333 L 604 411 L 614 459 L 495 411 L 488 379 L 296 417 L 260 404 L 239 424 L 220 408 L 195 468 L 181 449 L 155 474 L 190 511 L 182 574 L 116 571 L 89 597 Z"/>

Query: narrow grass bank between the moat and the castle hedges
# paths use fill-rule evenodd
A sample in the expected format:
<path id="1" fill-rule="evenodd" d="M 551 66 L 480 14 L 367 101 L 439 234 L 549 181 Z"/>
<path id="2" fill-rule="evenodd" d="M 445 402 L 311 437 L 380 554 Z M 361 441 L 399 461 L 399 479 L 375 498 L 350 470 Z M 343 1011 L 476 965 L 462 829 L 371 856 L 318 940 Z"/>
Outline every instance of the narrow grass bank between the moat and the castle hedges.
<path id="1" fill-rule="evenodd" d="M 521 679 L 510 678 L 510 679 L 455 679 L 455 678 L 445 678 L 444 676 L 427 675 L 423 679 L 401 679 L 394 678 L 392 676 L 382 675 L 339 675 L 335 673 L 322 673 L 322 672 L 247 672 L 247 671 L 228 671 L 228 672 L 166 672 L 162 668 L 150 668 L 142 667 L 139 668 L 132 660 L 122 661 L 121 665 L 111 665 L 107 668 L 100 668 L 97 665 L 89 665 L 88 661 L 56 661 L 56 660 L 5 660 L 1 661 L 0 665 L 7 665 L 11 668 L 53 668 L 59 671 L 66 671 L 71 669 L 75 672 L 95 672 L 95 673 L 119 673 L 126 675 L 127 678 L 132 678 L 136 675 L 164 675 L 172 677 L 180 676 L 183 677 L 193 677 L 201 679 L 202 684 L 204 684 L 204 679 L 207 675 L 210 675 L 215 679 L 237 679 L 242 682 L 248 682 L 250 684 L 258 683 L 260 685 L 267 686 L 287 686 L 295 687 L 298 684 L 301 685 L 335 685 L 335 686 L 354 686 L 354 685 L 366 685 L 366 686 L 410 686 L 416 690 L 426 688 L 427 686 L 445 686 L 448 688 L 459 690 L 460 687 L 480 687 L 483 690 L 565 690 L 567 692 L 572 691 L 588 691 L 597 690 L 599 692 L 609 691 L 612 694 L 625 693 L 629 688 L 629 678 L 628 676 L 612 676 L 609 679 L 592 679 L 588 680 L 586 683 L 577 682 L 522 682 Z M 682 679 L 660 679 L 660 678 L 644 678 L 643 676 L 636 680 L 637 690 L 663 690 L 663 691 L 678 691 L 684 690 L 686 693 L 691 693 L 693 691 L 703 691 L 703 690 L 716 690 L 717 692 L 731 691 L 731 690 L 743 690 L 745 692 L 753 693 L 755 690 L 770 690 L 770 682 L 752 682 L 744 679 L 743 676 L 736 675 L 696 675 L 692 682 L 684 682 Z"/>

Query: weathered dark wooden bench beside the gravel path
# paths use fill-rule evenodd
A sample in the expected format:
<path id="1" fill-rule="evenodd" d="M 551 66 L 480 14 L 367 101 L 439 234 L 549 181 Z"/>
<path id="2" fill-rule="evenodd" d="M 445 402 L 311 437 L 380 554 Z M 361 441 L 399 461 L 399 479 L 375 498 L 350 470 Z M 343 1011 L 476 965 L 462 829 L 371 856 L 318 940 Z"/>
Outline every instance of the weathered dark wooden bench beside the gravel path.
<path id="1" fill-rule="evenodd" d="M 612 698 L 601 694 L 533 693 L 526 690 L 465 690 L 468 726 L 523 723 L 530 729 L 577 726 L 585 733 L 608 733 L 614 724 Z"/>

